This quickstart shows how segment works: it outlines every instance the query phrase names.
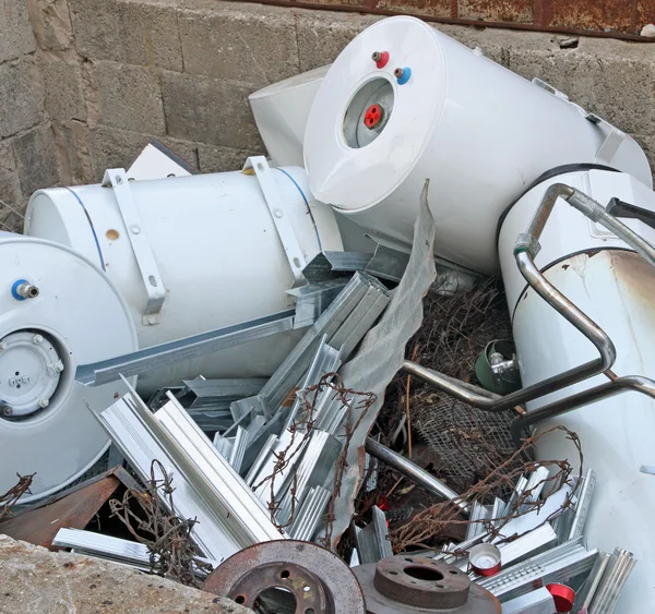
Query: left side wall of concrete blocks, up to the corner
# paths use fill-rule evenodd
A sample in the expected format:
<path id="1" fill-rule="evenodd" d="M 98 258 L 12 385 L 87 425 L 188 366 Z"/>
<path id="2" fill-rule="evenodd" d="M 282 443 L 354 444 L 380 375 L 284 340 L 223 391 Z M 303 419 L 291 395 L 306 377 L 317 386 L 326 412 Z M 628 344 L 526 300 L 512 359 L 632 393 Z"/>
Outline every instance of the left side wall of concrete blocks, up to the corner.
<path id="1" fill-rule="evenodd" d="M 29 194 L 59 181 L 36 39 L 23 1 L 0 1 L 0 231 L 19 229 Z"/>

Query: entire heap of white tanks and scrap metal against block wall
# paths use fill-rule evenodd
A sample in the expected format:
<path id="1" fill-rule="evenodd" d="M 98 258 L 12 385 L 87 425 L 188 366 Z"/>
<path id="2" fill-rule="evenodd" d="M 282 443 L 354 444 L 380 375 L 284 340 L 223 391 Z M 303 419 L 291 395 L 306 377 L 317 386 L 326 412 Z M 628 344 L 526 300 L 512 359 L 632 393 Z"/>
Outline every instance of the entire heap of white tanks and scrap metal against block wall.
<path id="1" fill-rule="evenodd" d="M 652 612 L 639 145 L 404 16 L 250 103 L 269 158 L 0 233 L 0 532 L 262 613 Z"/>

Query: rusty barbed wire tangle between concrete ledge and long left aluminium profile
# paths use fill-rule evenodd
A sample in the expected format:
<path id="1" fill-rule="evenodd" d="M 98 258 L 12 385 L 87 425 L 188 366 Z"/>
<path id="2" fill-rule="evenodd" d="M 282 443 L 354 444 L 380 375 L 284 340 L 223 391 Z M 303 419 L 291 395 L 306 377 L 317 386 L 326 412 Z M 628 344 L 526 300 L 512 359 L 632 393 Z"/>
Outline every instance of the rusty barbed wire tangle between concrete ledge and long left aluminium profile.
<path id="1" fill-rule="evenodd" d="M 147 546 L 152 574 L 200 588 L 203 580 L 199 573 L 209 574 L 213 567 L 200 558 L 191 540 L 195 518 L 176 514 L 174 492 L 172 479 L 155 459 L 145 491 L 128 489 L 122 501 L 109 501 L 109 508 L 111 516 L 118 518 L 138 542 Z"/>

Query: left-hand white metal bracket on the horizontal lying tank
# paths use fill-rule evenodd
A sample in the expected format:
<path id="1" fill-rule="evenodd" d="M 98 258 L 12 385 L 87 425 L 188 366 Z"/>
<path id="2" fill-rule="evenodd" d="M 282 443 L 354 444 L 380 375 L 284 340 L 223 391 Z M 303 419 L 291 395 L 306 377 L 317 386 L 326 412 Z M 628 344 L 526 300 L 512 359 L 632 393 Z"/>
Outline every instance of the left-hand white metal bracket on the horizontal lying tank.
<path id="1" fill-rule="evenodd" d="M 166 298 L 166 287 L 159 275 L 157 261 L 147 240 L 126 171 L 122 168 L 107 169 L 103 178 L 103 186 L 111 186 L 114 190 L 116 202 L 128 230 L 128 238 L 130 239 L 130 244 L 132 245 L 132 251 L 141 272 L 143 285 L 147 292 L 147 301 L 143 309 L 143 324 L 158 324 L 159 312 Z"/>

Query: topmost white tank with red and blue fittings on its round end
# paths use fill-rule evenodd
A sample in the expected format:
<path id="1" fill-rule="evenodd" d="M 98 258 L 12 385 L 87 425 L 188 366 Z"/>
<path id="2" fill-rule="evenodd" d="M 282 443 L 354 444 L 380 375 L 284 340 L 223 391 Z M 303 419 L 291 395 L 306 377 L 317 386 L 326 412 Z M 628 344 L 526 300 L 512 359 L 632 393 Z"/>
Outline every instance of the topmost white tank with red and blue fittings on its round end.
<path id="1" fill-rule="evenodd" d="M 577 162 L 652 185 L 632 139 L 406 16 L 376 23 L 342 51 L 305 132 L 319 201 L 410 244 L 429 178 L 437 254 L 480 273 L 497 270 L 502 210 L 545 171 Z"/>

